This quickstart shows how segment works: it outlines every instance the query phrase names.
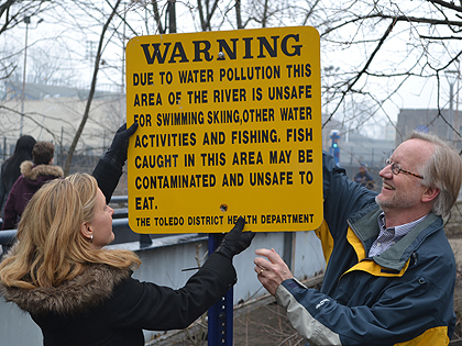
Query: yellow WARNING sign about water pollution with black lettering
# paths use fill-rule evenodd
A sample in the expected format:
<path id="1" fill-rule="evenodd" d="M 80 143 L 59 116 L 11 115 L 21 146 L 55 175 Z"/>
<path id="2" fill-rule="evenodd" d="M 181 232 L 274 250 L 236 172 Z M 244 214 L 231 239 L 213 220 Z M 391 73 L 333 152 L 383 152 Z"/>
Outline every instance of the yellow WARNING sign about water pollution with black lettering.
<path id="1" fill-rule="evenodd" d="M 127 46 L 129 224 L 309 231 L 322 221 L 314 27 L 139 36 Z"/>

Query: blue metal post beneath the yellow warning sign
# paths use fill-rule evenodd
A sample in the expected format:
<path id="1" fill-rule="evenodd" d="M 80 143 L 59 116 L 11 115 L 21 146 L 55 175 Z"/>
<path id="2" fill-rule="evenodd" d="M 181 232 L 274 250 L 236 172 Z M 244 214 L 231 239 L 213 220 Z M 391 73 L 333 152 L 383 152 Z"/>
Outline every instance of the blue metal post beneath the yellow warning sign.
<path id="1" fill-rule="evenodd" d="M 209 234 L 209 254 L 220 245 L 223 234 Z M 208 312 L 208 346 L 232 346 L 233 288 Z"/>

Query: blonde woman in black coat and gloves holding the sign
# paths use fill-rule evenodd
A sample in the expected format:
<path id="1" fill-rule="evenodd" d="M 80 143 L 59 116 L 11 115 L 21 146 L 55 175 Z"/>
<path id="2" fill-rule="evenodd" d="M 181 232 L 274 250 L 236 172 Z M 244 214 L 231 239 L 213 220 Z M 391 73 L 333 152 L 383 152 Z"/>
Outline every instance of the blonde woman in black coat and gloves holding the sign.
<path id="1" fill-rule="evenodd" d="M 114 237 L 107 202 L 135 125 L 119 129 L 96 179 L 75 174 L 33 196 L 0 265 L 3 298 L 31 314 L 45 346 L 143 346 L 142 330 L 185 328 L 237 282 L 232 258 L 254 236 L 242 217 L 180 289 L 132 278 L 138 256 L 105 248 Z"/>

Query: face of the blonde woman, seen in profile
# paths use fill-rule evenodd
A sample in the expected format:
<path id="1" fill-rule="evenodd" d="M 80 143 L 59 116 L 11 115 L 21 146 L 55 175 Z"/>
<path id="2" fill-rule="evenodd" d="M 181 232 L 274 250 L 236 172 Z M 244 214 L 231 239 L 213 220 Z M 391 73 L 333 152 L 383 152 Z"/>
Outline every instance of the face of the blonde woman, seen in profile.
<path id="1" fill-rule="evenodd" d="M 88 223 L 88 227 L 94 236 L 92 247 L 101 248 L 114 239 L 112 232 L 112 214 L 114 210 L 106 204 L 105 194 L 98 189 L 97 203 L 94 219 Z"/>

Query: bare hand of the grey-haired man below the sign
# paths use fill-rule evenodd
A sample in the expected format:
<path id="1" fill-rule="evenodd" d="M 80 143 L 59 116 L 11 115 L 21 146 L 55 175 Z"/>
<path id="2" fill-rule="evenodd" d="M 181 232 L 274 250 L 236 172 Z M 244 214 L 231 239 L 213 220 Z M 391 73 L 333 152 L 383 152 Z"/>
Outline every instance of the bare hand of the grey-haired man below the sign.
<path id="1" fill-rule="evenodd" d="M 277 287 L 284 280 L 294 278 L 283 258 L 274 248 L 258 248 L 255 250 L 255 255 L 264 256 L 268 259 L 256 257 L 253 263 L 255 264 L 254 270 L 260 282 L 271 294 L 276 294 Z"/>

